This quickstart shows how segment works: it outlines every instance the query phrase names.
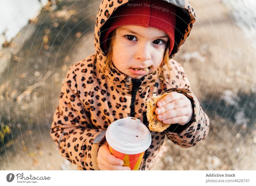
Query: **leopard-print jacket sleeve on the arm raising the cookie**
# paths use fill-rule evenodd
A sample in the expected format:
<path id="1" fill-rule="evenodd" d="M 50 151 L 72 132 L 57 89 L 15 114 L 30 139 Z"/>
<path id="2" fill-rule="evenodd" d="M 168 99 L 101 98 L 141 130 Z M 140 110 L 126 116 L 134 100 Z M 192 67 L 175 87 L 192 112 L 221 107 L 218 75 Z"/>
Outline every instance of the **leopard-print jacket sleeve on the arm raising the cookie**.
<path id="1" fill-rule="evenodd" d="M 176 91 L 185 95 L 191 101 L 193 115 L 187 124 L 172 124 L 169 128 L 164 130 L 164 132 L 166 133 L 168 139 L 170 139 L 173 143 L 187 148 L 196 145 L 197 142 L 208 136 L 210 120 L 206 113 L 204 113 L 194 93 L 189 89 L 190 82 L 188 81 L 184 68 L 180 64 L 178 65 L 178 68 L 178 79 L 180 80 L 178 84 L 179 88 L 166 89 L 164 92 L 162 92 L 162 94 L 165 92 Z"/>

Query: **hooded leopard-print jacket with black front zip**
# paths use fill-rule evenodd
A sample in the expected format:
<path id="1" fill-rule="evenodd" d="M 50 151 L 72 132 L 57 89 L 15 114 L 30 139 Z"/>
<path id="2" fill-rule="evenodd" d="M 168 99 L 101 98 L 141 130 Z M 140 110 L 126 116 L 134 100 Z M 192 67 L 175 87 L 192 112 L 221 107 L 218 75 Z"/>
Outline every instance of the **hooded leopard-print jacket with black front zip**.
<path id="1" fill-rule="evenodd" d="M 165 1 L 179 7 L 178 14 L 183 20 L 183 24 L 177 24 L 178 34 L 175 33 L 169 69 L 162 68 L 164 78 L 159 78 L 156 71 L 139 80 L 126 76 L 113 64 L 105 72 L 102 71 L 106 56 L 100 46 L 100 28 L 116 8 L 129 1 L 101 1 L 95 24 L 96 53 L 69 67 L 50 133 L 60 154 L 76 164 L 79 170 L 99 170 L 97 152 L 105 139 L 108 125 L 113 121 L 133 116 L 148 127 L 145 101 L 153 93 L 159 95 L 177 91 L 184 94 L 191 101 L 193 116 L 186 125 L 172 124 L 161 133 L 151 131 L 152 142 L 143 156 L 139 170 L 154 168 L 165 137 L 187 148 L 208 135 L 209 118 L 191 91 L 184 68 L 172 59 L 188 37 L 196 16 L 187 0 Z M 169 71 L 172 75 L 168 75 Z M 134 103 L 132 97 L 135 97 Z"/>

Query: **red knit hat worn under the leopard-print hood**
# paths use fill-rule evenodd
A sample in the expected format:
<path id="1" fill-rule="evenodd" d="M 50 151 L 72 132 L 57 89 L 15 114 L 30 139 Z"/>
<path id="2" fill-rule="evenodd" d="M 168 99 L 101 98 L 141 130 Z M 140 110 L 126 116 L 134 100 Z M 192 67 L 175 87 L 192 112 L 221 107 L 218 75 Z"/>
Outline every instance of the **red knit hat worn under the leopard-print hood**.
<path id="1" fill-rule="evenodd" d="M 176 6 L 163 0 L 134 0 L 123 4 L 108 18 L 102 31 L 102 46 L 107 51 L 110 32 L 124 25 L 139 25 L 163 30 L 170 38 L 169 55 L 174 45 Z"/>

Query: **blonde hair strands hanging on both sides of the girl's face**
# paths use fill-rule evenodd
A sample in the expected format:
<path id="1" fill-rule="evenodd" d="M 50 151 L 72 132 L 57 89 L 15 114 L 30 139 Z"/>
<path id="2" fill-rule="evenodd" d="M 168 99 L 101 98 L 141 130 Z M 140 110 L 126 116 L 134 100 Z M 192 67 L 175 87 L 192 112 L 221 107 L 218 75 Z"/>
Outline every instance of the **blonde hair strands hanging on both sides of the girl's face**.
<path id="1" fill-rule="evenodd" d="M 110 64 L 112 62 L 112 55 L 113 55 L 113 43 L 114 43 L 114 39 L 116 36 L 116 29 L 113 30 L 110 34 L 109 34 L 109 40 L 107 42 L 107 47 L 108 47 L 108 53 L 106 55 L 106 61 L 105 61 L 105 66 L 103 67 L 103 72 L 106 71 L 107 67 L 110 67 Z M 168 76 L 168 78 L 171 77 L 171 70 L 170 66 L 169 66 L 169 61 L 170 61 L 170 57 L 169 57 L 169 47 L 170 47 L 170 40 L 166 43 L 166 49 L 164 51 L 164 57 L 163 57 L 163 61 L 162 64 L 158 67 L 157 71 L 158 71 L 158 76 L 159 79 L 164 80 L 165 76 L 164 76 L 164 72 L 167 70 L 169 72 L 169 76 L 168 74 L 166 74 Z M 165 68 L 164 68 L 165 67 Z M 170 69 L 170 70 L 168 70 Z"/>

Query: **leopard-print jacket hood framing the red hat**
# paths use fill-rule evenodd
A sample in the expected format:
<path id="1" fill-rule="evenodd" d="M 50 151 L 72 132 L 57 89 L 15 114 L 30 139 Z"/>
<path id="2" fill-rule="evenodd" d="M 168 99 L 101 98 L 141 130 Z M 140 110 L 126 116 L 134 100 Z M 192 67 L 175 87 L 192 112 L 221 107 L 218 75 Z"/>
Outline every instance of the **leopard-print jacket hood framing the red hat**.
<path id="1" fill-rule="evenodd" d="M 106 23 L 108 18 L 113 12 L 121 5 L 130 2 L 131 0 L 102 0 L 100 8 L 97 13 L 96 24 L 95 24 L 95 38 L 94 46 L 97 52 L 97 61 L 105 62 L 105 53 L 102 49 L 100 34 L 101 28 Z M 133 0 L 136 1 L 136 0 Z M 193 24 L 196 21 L 196 15 L 194 9 L 189 4 L 188 0 L 162 0 L 178 7 L 176 16 L 176 28 L 175 28 L 175 42 L 170 58 L 172 58 L 179 50 L 181 45 L 187 39 Z M 104 65 L 100 63 L 101 66 Z"/>

